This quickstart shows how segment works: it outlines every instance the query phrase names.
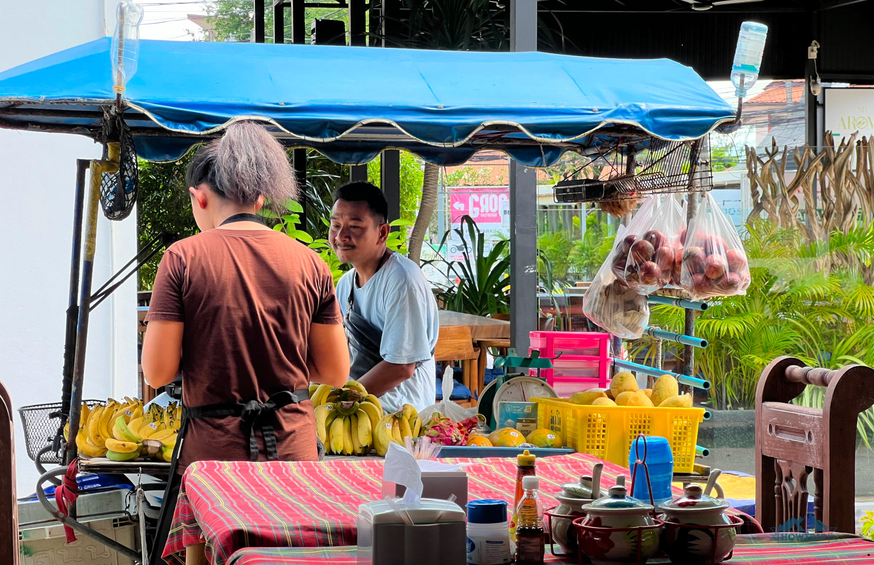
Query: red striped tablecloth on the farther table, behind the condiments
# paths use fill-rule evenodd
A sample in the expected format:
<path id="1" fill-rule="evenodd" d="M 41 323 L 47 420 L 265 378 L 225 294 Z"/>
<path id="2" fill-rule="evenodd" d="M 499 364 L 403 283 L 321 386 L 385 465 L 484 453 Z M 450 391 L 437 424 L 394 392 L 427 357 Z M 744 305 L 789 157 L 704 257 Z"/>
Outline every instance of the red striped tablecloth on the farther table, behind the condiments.
<path id="1" fill-rule="evenodd" d="M 469 462 L 468 498 L 512 503 L 516 459 L 442 459 Z M 628 470 L 586 453 L 538 460 L 545 506 L 560 485 L 591 474 L 604 463 L 603 486 Z M 355 519 L 363 502 L 381 499 L 382 459 L 330 461 L 199 461 L 185 471 L 170 539 L 169 562 L 184 562 L 184 548 L 206 542 L 206 557 L 225 565 L 239 548 L 354 546 Z"/>

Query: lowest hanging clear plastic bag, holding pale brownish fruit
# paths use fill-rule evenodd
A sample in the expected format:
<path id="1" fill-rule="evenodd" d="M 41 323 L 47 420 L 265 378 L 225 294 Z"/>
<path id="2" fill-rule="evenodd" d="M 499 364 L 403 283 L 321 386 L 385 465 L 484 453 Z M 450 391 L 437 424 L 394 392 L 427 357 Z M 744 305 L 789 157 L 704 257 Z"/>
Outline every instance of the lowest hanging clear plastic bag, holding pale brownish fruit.
<path id="1" fill-rule="evenodd" d="M 625 226 L 620 226 L 613 251 L 586 289 L 583 314 L 607 332 L 626 340 L 635 340 L 643 335 L 643 330 L 649 324 L 647 297 L 617 279 L 611 262 L 626 232 Z"/>

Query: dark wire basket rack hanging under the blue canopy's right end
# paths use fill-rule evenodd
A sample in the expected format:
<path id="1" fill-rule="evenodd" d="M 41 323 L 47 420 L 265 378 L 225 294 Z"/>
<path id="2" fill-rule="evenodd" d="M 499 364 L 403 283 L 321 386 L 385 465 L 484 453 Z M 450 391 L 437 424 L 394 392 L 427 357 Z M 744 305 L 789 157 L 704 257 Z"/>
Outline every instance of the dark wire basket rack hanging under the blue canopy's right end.
<path id="1" fill-rule="evenodd" d="M 559 181 L 556 203 L 605 202 L 713 188 L 710 144 L 650 137 L 617 141 Z M 692 172 L 692 163 L 695 164 Z M 584 170 L 593 178 L 573 178 Z"/>

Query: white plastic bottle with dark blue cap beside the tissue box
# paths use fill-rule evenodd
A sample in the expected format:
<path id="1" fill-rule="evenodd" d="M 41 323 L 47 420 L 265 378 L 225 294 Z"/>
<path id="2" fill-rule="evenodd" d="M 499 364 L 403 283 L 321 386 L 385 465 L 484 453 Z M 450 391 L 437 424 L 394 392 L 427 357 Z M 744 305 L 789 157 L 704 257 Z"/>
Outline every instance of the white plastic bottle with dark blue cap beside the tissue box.
<path id="1" fill-rule="evenodd" d="M 468 502 L 468 563 L 503 565 L 512 561 L 510 521 L 503 500 Z"/>

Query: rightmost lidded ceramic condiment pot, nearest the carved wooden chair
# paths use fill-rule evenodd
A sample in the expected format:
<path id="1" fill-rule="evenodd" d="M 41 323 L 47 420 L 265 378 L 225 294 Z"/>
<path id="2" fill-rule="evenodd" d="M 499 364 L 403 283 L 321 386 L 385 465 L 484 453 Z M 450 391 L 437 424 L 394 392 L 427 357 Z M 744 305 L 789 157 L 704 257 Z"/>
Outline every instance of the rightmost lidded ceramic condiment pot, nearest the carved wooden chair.
<path id="1" fill-rule="evenodd" d="M 731 524 L 732 520 L 725 515 L 728 506 L 727 500 L 704 494 L 701 486 L 687 485 L 683 490 L 683 496 L 660 506 L 666 521 L 686 525 L 676 526 L 667 523 L 664 525 L 662 550 L 675 563 L 721 563 L 734 548 L 735 528 L 724 527 L 712 530 L 693 525 Z"/>

